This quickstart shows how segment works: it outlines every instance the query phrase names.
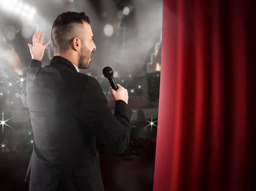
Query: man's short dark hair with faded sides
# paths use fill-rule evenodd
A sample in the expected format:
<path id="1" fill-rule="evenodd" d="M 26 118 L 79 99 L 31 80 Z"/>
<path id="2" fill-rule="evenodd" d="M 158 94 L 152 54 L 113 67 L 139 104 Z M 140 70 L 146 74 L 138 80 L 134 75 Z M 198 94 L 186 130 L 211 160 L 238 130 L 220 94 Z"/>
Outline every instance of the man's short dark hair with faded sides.
<path id="1" fill-rule="evenodd" d="M 84 12 L 66 12 L 58 15 L 52 25 L 51 38 L 54 50 L 65 53 L 74 38 L 84 41 L 84 23 L 90 24 L 90 18 Z"/>

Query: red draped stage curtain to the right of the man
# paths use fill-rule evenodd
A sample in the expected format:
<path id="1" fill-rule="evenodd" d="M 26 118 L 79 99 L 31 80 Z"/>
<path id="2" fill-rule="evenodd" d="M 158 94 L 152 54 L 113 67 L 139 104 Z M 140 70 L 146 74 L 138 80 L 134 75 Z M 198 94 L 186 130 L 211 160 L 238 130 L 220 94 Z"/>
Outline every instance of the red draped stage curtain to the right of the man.
<path id="1" fill-rule="evenodd" d="M 255 12 L 246 0 L 163 0 L 154 191 L 255 186 Z"/>

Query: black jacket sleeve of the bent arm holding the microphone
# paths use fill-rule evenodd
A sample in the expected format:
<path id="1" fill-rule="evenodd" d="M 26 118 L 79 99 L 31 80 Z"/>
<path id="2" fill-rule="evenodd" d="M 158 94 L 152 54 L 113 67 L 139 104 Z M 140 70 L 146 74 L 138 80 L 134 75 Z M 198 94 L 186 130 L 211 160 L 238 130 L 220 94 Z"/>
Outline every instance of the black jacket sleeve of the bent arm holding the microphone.
<path id="1" fill-rule="evenodd" d="M 118 100 L 113 115 L 107 103 L 99 82 L 89 78 L 82 90 L 80 119 L 109 150 L 122 153 L 130 140 L 132 111 Z"/>

